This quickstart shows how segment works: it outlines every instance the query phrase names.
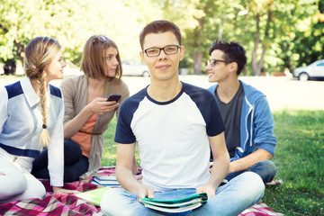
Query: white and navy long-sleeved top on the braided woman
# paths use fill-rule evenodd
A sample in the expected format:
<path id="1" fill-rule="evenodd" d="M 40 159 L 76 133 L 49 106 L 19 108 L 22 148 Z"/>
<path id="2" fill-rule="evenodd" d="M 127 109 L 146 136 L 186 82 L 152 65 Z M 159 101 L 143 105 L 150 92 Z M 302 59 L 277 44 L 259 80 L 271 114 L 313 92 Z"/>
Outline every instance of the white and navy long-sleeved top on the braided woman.
<path id="1" fill-rule="evenodd" d="M 64 103 L 60 90 L 53 85 L 48 85 L 47 96 L 50 184 L 63 186 Z M 18 157 L 29 157 L 32 162 L 42 150 L 40 98 L 27 76 L 0 88 L 0 98 L 0 148 Z"/>

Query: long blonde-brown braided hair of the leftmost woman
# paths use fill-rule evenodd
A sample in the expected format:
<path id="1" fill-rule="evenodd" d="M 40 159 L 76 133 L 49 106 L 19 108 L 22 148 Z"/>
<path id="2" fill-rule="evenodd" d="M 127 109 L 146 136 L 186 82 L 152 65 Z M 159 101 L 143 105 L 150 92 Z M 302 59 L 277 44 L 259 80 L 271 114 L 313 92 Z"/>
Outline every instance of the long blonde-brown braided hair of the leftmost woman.
<path id="1" fill-rule="evenodd" d="M 40 144 L 43 147 L 49 145 L 49 131 L 47 130 L 47 85 L 45 67 L 49 65 L 61 49 L 58 40 L 49 37 L 37 37 L 32 39 L 26 46 L 23 68 L 30 79 L 36 79 L 40 88 L 40 110 L 43 121 L 43 130 L 40 134 Z"/>

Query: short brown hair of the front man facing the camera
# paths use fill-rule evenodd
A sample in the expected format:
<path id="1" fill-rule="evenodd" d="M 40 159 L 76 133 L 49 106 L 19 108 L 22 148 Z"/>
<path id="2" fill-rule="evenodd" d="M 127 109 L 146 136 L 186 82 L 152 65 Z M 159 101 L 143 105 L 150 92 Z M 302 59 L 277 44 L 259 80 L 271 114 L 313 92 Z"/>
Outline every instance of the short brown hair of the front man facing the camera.
<path id="1" fill-rule="evenodd" d="M 149 33 L 164 33 L 166 31 L 171 31 L 175 34 L 176 40 L 178 40 L 179 45 L 181 45 L 181 32 L 175 23 L 171 23 L 165 20 L 157 20 L 152 23 L 148 23 L 147 26 L 139 34 L 140 48 L 143 49 L 144 39 Z"/>

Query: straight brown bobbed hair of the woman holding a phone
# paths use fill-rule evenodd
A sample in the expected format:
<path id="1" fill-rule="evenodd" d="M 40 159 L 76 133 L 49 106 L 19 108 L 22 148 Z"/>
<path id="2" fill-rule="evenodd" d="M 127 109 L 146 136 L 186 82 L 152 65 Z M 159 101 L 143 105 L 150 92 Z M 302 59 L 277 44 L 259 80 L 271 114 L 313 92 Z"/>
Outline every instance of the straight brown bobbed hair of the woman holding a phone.
<path id="1" fill-rule="evenodd" d="M 119 50 L 114 41 L 103 35 L 94 35 L 85 42 L 85 48 L 81 59 L 80 69 L 85 73 L 85 76 L 94 79 L 108 79 L 112 80 L 115 77 L 108 77 L 105 74 L 107 66 L 105 64 L 105 51 L 106 49 L 113 47 L 117 49 L 117 61 L 118 66 L 116 69 L 116 78 L 121 78 L 121 57 Z"/>

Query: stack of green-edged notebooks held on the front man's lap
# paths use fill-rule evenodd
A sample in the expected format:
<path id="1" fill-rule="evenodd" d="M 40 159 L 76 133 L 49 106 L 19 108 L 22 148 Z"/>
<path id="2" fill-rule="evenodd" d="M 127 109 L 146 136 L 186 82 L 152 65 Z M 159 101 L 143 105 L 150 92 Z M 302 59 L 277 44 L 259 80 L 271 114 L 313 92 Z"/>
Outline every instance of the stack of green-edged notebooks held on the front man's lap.
<path id="1" fill-rule="evenodd" d="M 207 200 L 207 193 L 199 193 L 177 200 L 162 201 L 156 199 L 141 198 L 139 199 L 139 202 L 142 202 L 146 207 L 157 211 L 183 212 L 196 209 L 202 206 L 203 202 L 207 202 Z"/>

